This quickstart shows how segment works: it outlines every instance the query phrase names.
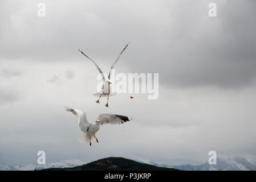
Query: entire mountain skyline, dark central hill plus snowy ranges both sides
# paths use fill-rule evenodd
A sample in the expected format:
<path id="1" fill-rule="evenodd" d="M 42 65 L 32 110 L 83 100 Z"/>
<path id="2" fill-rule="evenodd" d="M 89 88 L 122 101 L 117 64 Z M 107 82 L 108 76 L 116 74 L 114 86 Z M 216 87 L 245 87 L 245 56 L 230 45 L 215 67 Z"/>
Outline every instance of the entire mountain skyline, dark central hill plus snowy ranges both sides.
<path id="1" fill-rule="evenodd" d="M 105 158 L 86 164 L 82 160 L 63 160 L 61 162 L 48 163 L 46 165 L 5 165 L 0 164 L 2 171 L 33 171 L 33 170 L 185 170 L 185 171 L 256 171 L 256 166 L 244 158 L 222 159 L 217 158 L 216 165 L 208 162 L 200 165 L 169 166 L 157 164 L 145 159 L 139 161 L 125 158 Z"/>

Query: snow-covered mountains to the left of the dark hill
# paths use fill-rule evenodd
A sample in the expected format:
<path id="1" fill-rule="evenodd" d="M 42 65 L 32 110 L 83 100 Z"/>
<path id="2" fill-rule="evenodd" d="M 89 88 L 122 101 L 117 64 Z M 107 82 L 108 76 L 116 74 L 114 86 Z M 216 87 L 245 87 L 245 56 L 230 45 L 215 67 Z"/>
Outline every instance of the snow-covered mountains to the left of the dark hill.
<path id="1" fill-rule="evenodd" d="M 47 168 L 66 168 L 66 167 L 75 167 L 86 164 L 82 160 L 72 159 L 72 160 L 63 160 L 61 162 L 48 163 L 46 165 L 39 164 L 27 164 L 27 165 L 7 165 L 0 164 L 1 171 L 34 171 L 35 169 L 47 169 Z"/>

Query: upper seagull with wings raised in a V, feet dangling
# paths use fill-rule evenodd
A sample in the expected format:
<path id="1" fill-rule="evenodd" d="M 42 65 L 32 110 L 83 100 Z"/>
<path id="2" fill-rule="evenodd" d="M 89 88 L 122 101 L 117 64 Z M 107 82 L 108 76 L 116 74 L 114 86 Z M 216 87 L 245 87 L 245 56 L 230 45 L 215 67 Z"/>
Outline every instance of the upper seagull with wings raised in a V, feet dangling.
<path id="1" fill-rule="evenodd" d="M 109 74 L 108 74 L 108 80 L 105 78 L 103 72 L 101 71 L 100 67 L 95 63 L 95 61 L 92 60 L 91 57 L 87 56 L 84 52 L 80 51 L 80 49 L 78 49 L 78 51 L 80 51 L 84 56 L 86 56 L 88 59 L 90 59 L 96 65 L 97 70 L 100 72 L 101 79 L 103 81 L 103 85 L 101 87 L 100 92 L 97 92 L 97 93 L 94 94 L 94 96 L 99 97 L 99 99 L 96 101 L 96 103 L 98 103 L 98 104 L 100 103 L 100 97 L 107 97 L 108 96 L 108 98 L 109 98 L 109 96 L 115 95 L 115 93 L 111 93 L 111 84 L 112 84 L 112 82 L 110 81 L 110 77 L 111 77 L 111 74 L 112 74 L 113 69 L 115 67 L 115 64 L 119 60 L 121 54 L 124 52 L 124 50 L 129 45 L 129 43 L 124 47 L 123 51 L 120 52 L 120 54 L 117 57 L 115 63 L 112 64 L 112 66 L 110 68 L 110 71 L 109 71 Z M 107 101 L 107 104 L 105 106 L 108 107 L 108 101 Z"/>

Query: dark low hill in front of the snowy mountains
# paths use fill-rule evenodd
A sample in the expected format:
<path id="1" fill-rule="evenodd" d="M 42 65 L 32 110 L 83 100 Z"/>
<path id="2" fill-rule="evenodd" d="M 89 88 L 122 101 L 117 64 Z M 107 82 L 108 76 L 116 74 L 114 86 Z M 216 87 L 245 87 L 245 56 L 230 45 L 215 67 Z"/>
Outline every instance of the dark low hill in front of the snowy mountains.
<path id="1" fill-rule="evenodd" d="M 125 158 L 104 158 L 94 162 L 72 168 L 49 168 L 44 171 L 123 171 L 123 170 L 144 170 L 144 171 L 177 171 L 173 168 L 156 167 L 143 164 Z"/>

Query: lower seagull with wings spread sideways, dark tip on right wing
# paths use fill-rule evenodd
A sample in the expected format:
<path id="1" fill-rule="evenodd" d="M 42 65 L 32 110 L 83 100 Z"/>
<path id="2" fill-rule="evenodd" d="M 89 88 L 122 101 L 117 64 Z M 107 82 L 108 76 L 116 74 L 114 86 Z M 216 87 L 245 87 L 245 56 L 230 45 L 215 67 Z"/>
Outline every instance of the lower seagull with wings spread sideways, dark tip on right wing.
<path id="1" fill-rule="evenodd" d="M 82 138 L 79 138 L 79 141 L 82 143 L 89 143 L 92 146 L 91 138 L 94 137 L 96 142 L 99 143 L 99 140 L 96 138 L 95 134 L 99 131 L 100 126 L 104 124 L 123 124 L 124 122 L 130 121 L 130 119 L 124 115 L 118 114 L 100 114 L 94 123 L 90 123 L 87 120 L 86 113 L 79 109 L 71 109 L 66 107 L 66 111 L 70 111 L 76 117 L 78 117 L 78 126 L 80 131 L 84 134 Z"/>

